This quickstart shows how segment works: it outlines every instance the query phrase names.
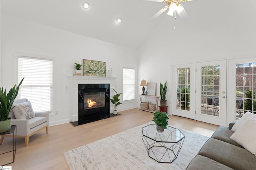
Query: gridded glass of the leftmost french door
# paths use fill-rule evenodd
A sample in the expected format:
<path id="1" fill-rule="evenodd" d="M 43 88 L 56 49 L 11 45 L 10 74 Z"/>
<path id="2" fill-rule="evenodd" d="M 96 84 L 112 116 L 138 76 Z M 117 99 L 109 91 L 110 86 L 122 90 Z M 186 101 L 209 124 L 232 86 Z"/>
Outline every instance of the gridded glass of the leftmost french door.
<path id="1" fill-rule="evenodd" d="M 177 102 L 176 108 L 190 110 L 190 68 L 177 68 L 176 70 Z"/>

